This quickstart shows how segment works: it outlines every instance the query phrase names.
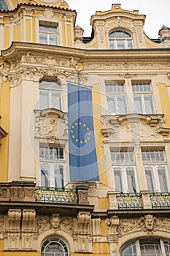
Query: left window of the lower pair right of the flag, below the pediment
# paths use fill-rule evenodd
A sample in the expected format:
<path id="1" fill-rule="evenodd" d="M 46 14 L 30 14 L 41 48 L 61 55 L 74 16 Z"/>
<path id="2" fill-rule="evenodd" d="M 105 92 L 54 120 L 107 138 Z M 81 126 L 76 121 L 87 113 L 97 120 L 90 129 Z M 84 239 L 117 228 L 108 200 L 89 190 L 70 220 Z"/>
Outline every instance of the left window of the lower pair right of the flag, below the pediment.
<path id="1" fill-rule="evenodd" d="M 117 192 L 138 192 L 134 151 L 112 150 L 112 167 Z"/>

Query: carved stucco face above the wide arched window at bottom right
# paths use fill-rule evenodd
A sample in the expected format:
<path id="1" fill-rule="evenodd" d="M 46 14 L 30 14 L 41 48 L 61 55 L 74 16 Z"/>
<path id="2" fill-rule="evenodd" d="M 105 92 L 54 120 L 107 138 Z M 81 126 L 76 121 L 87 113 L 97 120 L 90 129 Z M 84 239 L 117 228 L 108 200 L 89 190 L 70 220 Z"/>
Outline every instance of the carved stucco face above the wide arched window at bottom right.
<path id="1" fill-rule="evenodd" d="M 157 219 L 153 217 L 151 214 L 144 215 L 144 217 L 140 217 L 141 227 L 144 232 L 153 233 L 157 230 Z"/>

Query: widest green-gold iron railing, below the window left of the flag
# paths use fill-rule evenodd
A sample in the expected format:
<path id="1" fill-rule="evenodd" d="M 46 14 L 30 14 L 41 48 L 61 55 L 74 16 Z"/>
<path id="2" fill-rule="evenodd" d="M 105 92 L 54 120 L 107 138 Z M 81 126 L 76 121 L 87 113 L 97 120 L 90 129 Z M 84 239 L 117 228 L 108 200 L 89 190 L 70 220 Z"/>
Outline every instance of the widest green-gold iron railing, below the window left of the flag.
<path id="1" fill-rule="evenodd" d="M 35 200 L 44 203 L 77 204 L 77 191 L 76 189 L 36 187 Z"/>

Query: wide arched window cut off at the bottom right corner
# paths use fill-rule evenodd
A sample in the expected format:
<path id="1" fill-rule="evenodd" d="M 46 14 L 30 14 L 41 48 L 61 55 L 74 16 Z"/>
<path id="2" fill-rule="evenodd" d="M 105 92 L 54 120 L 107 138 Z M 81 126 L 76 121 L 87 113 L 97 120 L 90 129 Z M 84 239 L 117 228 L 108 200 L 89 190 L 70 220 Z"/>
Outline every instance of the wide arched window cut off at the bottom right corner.
<path id="1" fill-rule="evenodd" d="M 170 242 L 162 239 L 139 239 L 123 246 L 120 256 L 170 256 Z"/>

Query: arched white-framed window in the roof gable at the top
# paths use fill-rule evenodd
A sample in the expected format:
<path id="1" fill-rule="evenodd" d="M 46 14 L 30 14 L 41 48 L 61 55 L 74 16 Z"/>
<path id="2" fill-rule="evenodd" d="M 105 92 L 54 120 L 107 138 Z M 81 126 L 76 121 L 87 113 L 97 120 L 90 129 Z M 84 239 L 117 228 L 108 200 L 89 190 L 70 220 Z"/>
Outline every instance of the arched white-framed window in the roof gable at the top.
<path id="1" fill-rule="evenodd" d="M 131 34 L 125 31 L 113 31 L 109 34 L 110 49 L 132 49 L 133 40 Z"/>

